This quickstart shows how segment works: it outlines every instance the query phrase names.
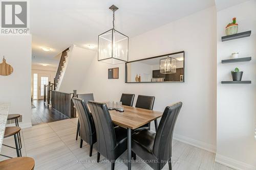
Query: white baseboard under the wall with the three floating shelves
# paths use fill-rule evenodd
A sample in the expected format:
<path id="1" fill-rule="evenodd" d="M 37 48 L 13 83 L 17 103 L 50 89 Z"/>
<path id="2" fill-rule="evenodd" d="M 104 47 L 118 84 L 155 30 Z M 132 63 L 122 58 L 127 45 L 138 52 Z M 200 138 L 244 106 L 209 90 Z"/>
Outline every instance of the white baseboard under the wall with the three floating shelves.
<path id="1" fill-rule="evenodd" d="M 253 165 L 250 165 L 238 160 L 234 160 L 219 154 L 216 154 L 215 162 L 226 165 L 228 167 L 231 167 L 237 170 L 255 170 L 256 169 L 256 167 Z"/>

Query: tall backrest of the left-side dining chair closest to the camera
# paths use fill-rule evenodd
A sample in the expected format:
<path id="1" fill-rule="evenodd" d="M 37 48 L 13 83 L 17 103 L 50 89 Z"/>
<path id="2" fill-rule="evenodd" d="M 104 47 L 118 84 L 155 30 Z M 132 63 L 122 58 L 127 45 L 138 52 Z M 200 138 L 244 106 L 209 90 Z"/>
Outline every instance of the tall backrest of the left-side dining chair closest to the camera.
<path id="1" fill-rule="evenodd" d="M 97 151 L 107 159 L 112 159 L 116 147 L 116 135 L 112 119 L 106 104 L 89 101 L 89 107 L 97 134 Z"/>

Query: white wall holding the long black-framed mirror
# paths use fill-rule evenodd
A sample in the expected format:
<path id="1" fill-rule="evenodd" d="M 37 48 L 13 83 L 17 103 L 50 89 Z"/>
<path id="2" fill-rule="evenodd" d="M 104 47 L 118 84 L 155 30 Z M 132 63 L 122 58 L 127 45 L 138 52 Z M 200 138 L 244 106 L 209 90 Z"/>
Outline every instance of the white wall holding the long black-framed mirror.
<path id="1" fill-rule="evenodd" d="M 121 93 L 156 96 L 154 110 L 183 102 L 175 137 L 216 150 L 216 10 L 208 8 L 130 38 L 129 61 L 185 51 L 185 83 L 124 83 L 124 64 L 109 65 L 95 55 L 78 92 L 93 92 L 97 101 L 119 101 Z M 119 79 L 108 80 L 108 68 Z M 136 103 L 136 100 L 135 100 Z M 154 128 L 153 128 L 154 129 Z"/>

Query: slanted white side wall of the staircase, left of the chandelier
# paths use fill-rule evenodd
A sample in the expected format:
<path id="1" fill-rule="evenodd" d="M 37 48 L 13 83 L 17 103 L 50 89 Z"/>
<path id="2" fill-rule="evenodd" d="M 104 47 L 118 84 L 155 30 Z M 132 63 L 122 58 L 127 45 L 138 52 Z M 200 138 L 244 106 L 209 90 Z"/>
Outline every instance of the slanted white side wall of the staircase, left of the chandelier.
<path id="1" fill-rule="evenodd" d="M 69 61 L 58 91 L 71 93 L 79 89 L 83 80 L 88 78 L 87 70 L 95 54 L 95 51 L 73 45 L 68 52 Z"/>

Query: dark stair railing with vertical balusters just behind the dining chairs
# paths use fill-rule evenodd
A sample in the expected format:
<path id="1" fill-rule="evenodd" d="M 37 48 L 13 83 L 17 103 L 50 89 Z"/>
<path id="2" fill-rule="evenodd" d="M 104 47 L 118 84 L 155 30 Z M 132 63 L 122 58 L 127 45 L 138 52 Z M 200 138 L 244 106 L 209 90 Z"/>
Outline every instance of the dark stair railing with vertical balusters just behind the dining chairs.
<path id="1" fill-rule="evenodd" d="M 76 90 L 73 91 L 73 93 L 65 93 L 52 90 L 52 108 L 69 118 L 76 117 L 76 110 L 72 101 L 72 98 L 76 97 Z"/>

